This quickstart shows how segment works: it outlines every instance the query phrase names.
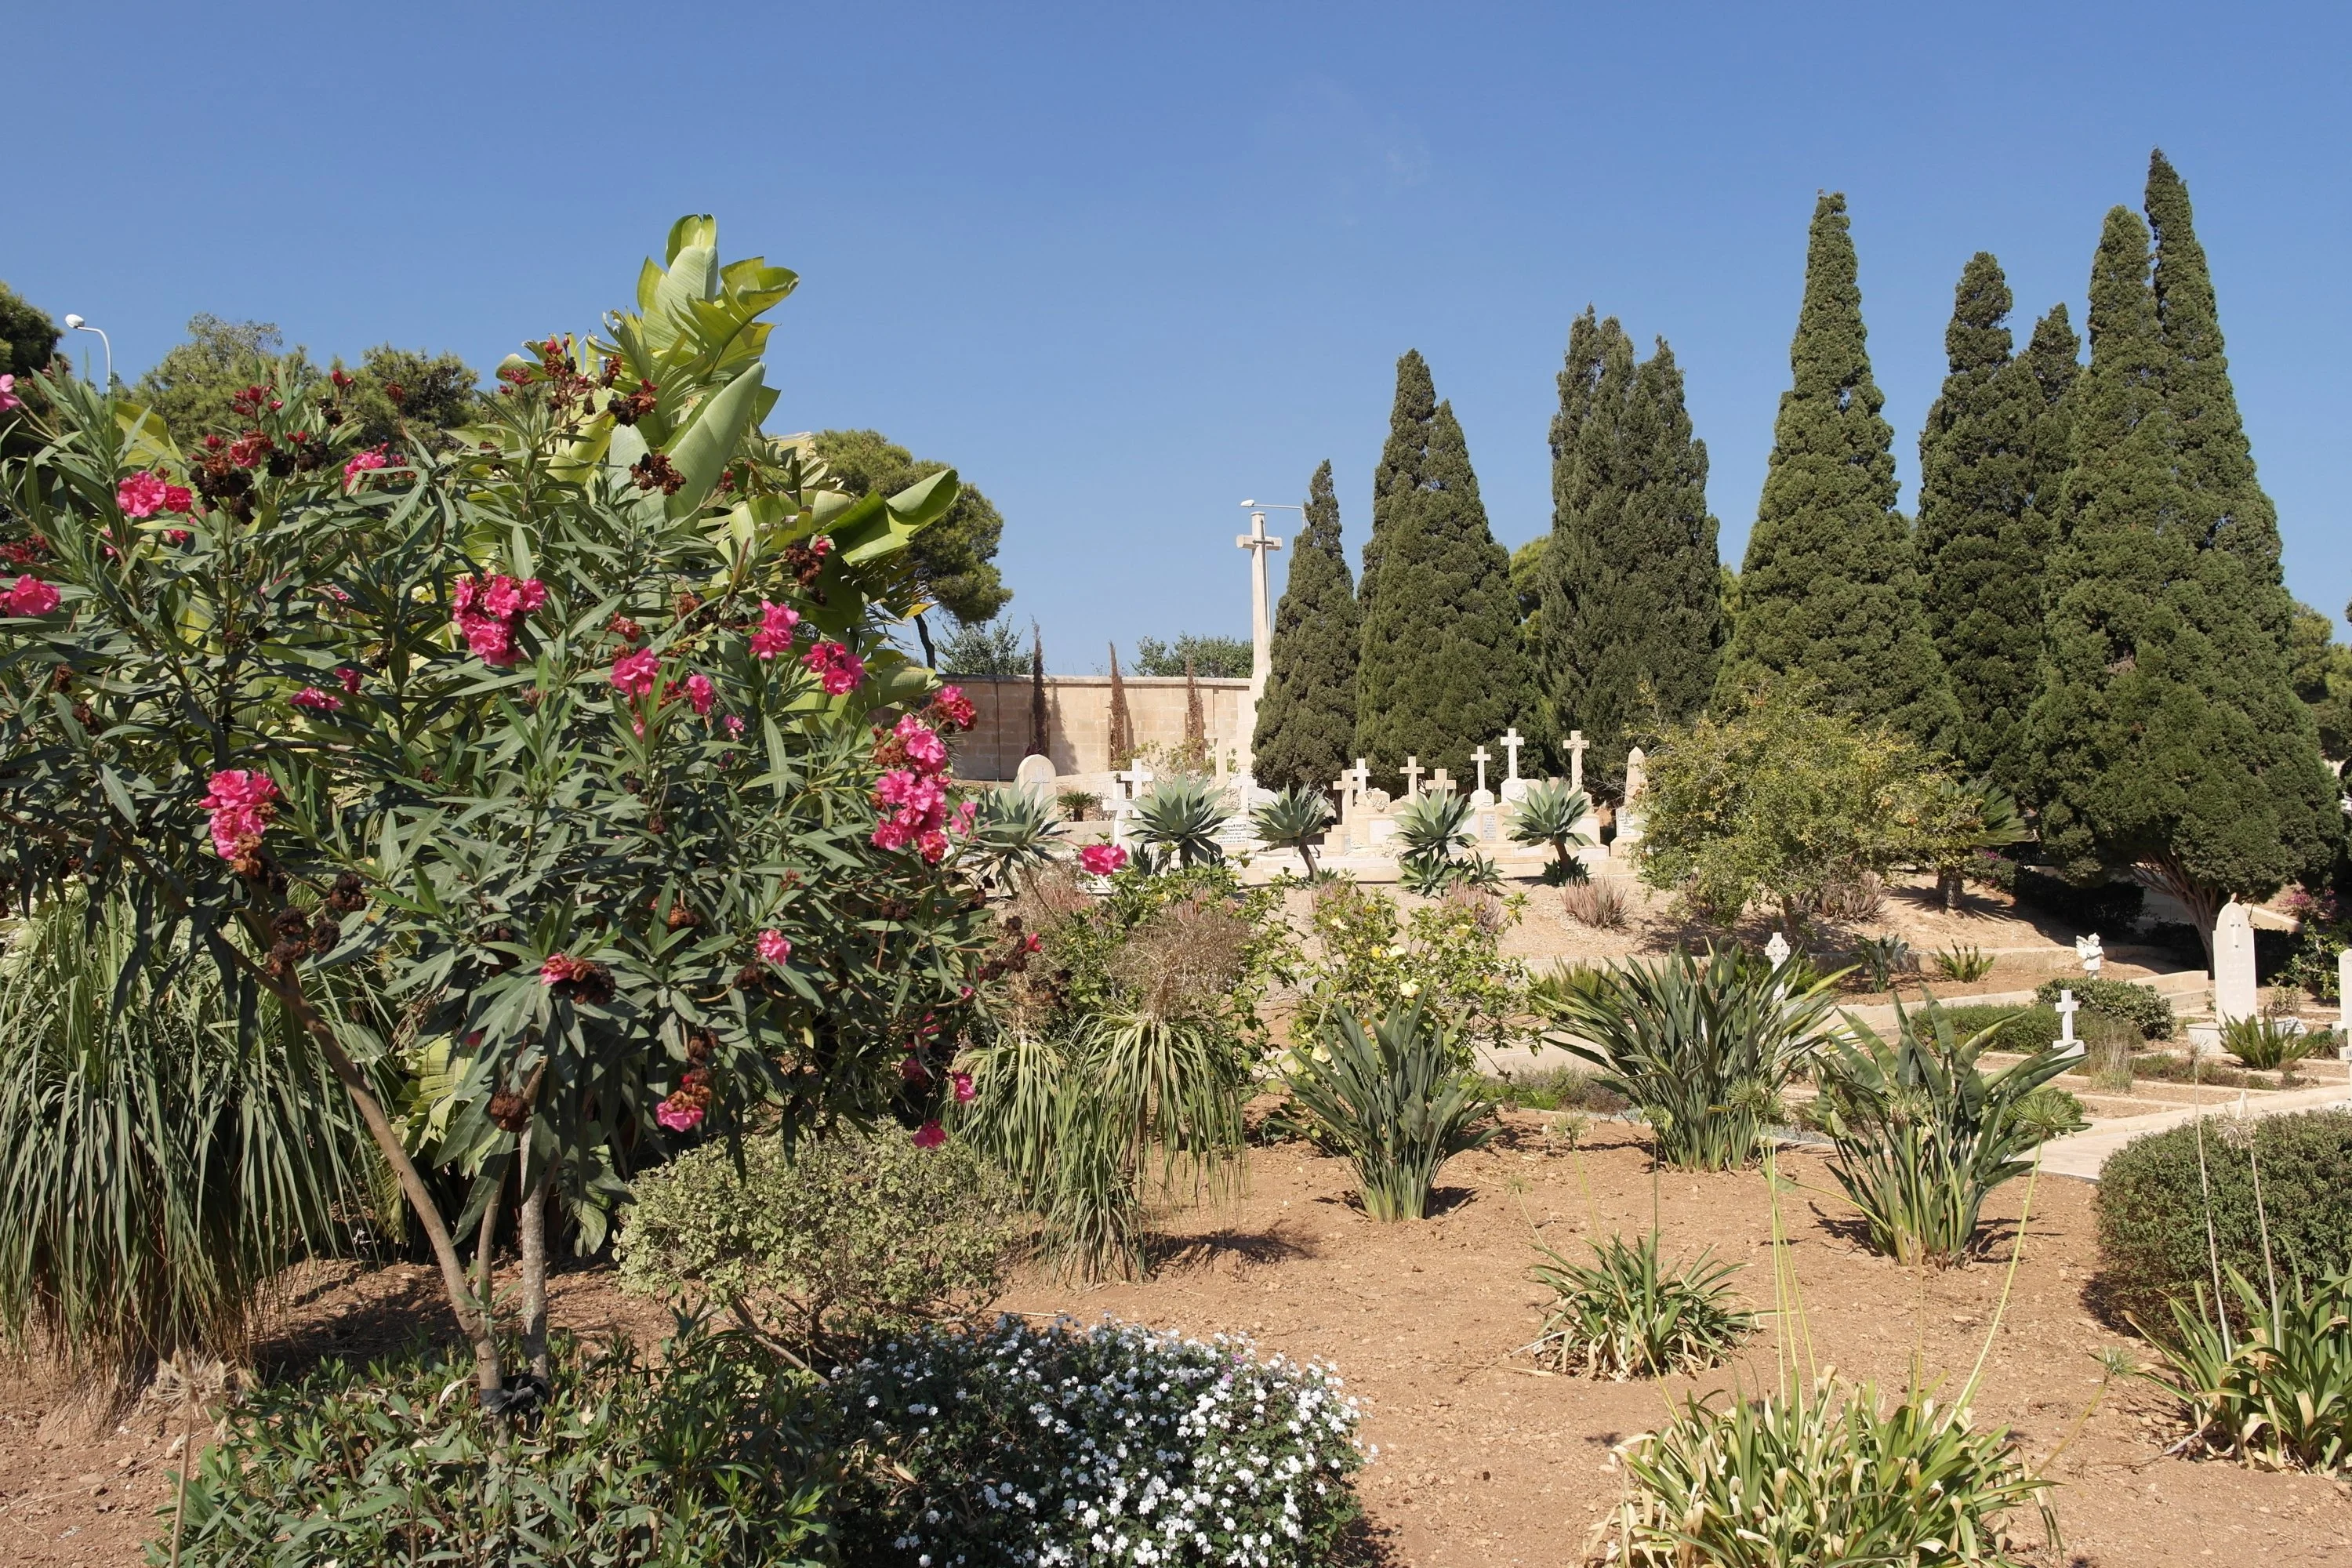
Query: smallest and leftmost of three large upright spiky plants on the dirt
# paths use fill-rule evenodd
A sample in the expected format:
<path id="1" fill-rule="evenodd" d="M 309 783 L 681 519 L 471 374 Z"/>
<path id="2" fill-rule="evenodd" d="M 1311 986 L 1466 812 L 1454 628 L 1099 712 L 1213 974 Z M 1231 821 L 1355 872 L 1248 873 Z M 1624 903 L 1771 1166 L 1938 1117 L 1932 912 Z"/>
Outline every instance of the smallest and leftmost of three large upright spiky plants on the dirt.
<path id="1" fill-rule="evenodd" d="M 1338 1013 L 1291 1060 L 1291 1095 L 1319 1138 L 1355 1164 L 1374 1220 L 1423 1218 L 1437 1171 L 1496 1133 L 1454 1030 L 1418 1001 L 1369 1032 Z"/>

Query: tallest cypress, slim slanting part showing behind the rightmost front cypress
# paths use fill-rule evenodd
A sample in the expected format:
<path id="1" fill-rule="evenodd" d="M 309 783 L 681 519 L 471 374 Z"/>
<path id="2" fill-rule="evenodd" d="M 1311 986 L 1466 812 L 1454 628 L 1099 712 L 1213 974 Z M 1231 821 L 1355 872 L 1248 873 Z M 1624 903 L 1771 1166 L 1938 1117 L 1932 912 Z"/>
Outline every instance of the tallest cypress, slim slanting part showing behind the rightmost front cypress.
<path id="1" fill-rule="evenodd" d="M 2178 442 L 2180 487 L 2197 524 L 2270 588 L 2263 623 L 2286 646 L 2293 597 L 2279 567 L 2279 510 L 2253 475 L 2253 447 L 2230 386 L 2213 273 L 2190 214 L 2190 188 L 2164 158 L 2147 155 L 2147 223 L 2157 233 L 2157 327 L 2164 334 L 2164 402 Z"/>

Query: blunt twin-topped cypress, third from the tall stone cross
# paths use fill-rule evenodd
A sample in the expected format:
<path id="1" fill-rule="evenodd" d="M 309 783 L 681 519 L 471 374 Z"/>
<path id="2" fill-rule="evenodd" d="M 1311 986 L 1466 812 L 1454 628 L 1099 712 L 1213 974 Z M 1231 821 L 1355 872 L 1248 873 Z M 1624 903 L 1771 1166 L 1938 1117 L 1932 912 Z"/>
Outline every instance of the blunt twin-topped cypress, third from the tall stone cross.
<path id="1" fill-rule="evenodd" d="M 1686 719 L 1715 691 L 1722 562 L 1708 447 L 1691 435 L 1675 350 L 1635 364 L 1616 317 L 1569 329 L 1552 418 L 1552 545 L 1541 562 L 1536 670 L 1564 745 L 1585 731 L 1585 778 L 1613 788 L 1630 726 Z"/>

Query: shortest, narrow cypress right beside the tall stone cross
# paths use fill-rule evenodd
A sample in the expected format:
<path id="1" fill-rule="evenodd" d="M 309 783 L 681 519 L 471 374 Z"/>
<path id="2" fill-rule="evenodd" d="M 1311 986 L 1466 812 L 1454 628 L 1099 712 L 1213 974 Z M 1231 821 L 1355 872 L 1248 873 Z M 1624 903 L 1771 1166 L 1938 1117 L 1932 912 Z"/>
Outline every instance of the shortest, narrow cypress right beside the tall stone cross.
<path id="1" fill-rule="evenodd" d="M 1308 484 L 1305 520 L 1291 545 L 1249 771 L 1268 790 L 1324 790 L 1350 762 L 1357 661 L 1355 581 L 1329 461 Z"/>

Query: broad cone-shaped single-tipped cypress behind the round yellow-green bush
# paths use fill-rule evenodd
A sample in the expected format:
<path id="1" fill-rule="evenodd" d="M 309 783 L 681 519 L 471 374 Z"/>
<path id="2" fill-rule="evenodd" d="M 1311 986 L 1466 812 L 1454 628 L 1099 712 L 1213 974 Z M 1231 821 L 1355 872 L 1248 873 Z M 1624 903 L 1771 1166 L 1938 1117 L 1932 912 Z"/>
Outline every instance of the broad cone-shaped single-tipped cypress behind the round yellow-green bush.
<path id="1" fill-rule="evenodd" d="M 1797 677 L 1830 710 L 1947 748 L 1959 705 L 1896 510 L 1893 428 L 1870 378 L 1853 235 L 1837 193 L 1813 207 L 1790 367 L 1717 701 Z"/>

